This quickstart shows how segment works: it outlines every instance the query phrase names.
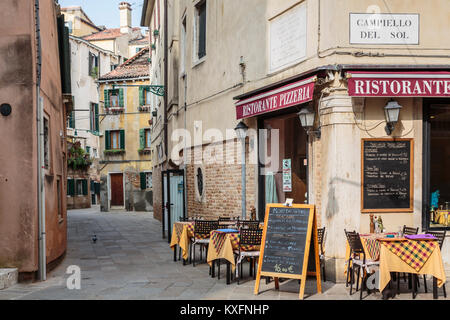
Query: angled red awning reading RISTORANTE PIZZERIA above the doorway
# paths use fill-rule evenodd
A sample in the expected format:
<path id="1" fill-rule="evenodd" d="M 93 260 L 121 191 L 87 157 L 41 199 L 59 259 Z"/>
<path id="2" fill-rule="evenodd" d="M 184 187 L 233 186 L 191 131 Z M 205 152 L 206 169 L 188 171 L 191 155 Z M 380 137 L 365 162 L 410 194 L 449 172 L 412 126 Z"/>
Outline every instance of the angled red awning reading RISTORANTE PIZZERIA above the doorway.
<path id="1" fill-rule="evenodd" d="M 316 76 L 236 102 L 236 119 L 245 119 L 272 112 L 313 99 Z"/>

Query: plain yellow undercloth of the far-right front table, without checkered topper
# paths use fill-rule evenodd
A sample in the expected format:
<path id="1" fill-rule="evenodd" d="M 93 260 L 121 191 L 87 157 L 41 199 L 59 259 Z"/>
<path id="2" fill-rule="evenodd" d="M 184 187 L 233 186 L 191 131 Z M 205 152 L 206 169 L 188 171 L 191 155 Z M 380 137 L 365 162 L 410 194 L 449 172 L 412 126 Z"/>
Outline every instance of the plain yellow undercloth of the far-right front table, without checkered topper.
<path id="1" fill-rule="evenodd" d="M 430 241 L 430 240 L 428 240 Z M 416 274 L 429 274 L 437 278 L 438 287 L 446 281 L 444 264 L 442 262 L 441 251 L 439 245 L 436 243 L 436 247 L 428 257 L 425 264 L 417 271 L 410 264 L 402 260 L 399 254 L 396 254 L 388 249 L 385 245 L 380 246 L 380 291 L 387 286 L 391 280 L 390 272 L 405 272 Z"/>

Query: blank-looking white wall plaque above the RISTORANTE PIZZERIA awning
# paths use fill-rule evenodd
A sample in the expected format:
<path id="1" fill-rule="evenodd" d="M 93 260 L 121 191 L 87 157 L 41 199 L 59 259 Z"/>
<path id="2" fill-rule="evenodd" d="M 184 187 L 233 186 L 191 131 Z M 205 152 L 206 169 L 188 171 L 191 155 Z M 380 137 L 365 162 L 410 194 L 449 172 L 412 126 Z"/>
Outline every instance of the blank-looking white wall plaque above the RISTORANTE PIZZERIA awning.
<path id="1" fill-rule="evenodd" d="M 286 68 L 306 58 L 306 3 L 270 22 L 269 72 Z"/>

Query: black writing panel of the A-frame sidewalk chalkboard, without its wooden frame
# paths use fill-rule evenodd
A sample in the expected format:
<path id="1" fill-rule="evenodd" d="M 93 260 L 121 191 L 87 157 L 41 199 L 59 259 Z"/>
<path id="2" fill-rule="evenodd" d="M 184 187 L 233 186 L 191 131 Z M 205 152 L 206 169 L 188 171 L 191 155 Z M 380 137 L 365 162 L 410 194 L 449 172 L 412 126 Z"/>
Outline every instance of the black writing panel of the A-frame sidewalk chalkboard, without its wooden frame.
<path id="1" fill-rule="evenodd" d="M 302 274 L 308 224 L 308 208 L 270 208 L 262 271 Z"/>

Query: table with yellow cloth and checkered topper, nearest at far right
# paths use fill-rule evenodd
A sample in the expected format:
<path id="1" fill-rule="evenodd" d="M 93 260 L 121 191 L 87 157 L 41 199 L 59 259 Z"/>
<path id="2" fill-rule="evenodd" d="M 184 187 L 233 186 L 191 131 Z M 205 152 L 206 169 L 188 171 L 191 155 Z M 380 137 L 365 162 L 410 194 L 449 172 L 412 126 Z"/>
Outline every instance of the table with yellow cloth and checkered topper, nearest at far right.
<path id="1" fill-rule="evenodd" d="M 433 275 L 433 299 L 446 281 L 439 244 L 434 240 L 383 238 L 380 243 L 380 292 L 391 280 L 391 272 Z"/>

